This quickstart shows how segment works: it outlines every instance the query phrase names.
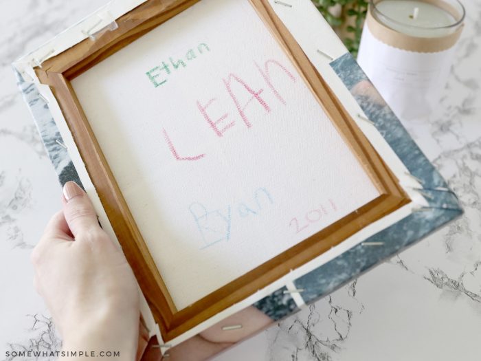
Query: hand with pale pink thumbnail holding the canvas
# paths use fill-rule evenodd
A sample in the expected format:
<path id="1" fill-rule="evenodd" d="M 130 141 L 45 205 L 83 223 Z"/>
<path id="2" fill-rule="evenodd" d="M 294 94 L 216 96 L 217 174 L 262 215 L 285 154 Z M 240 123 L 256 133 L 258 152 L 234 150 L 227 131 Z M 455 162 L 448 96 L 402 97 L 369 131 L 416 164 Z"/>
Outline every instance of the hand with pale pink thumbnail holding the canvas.
<path id="1" fill-rule="evenodd" d="M 135 360 L 135 276 L 100 228 L 87 194 L 74 182 L 67 182 L 63 193 L 63 210 L 49 221 L 32 252 L 34 285 L 60 332 L 63 351 L 120 351 L 115 360 Z"/>

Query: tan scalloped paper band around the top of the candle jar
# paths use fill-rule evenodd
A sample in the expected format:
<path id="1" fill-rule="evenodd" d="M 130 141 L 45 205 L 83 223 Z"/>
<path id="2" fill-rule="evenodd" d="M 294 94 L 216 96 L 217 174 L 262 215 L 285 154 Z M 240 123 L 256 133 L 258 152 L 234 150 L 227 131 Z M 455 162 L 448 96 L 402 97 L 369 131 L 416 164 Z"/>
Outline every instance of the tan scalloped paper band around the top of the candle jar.
<path id="1" fill-rule="evenodd" d="M 378 3 L 381 0 L 374 0 L 374 3 Z M 458 19 L 459 14 L 451 6 L 436 0 L 425 0 L 426 2 L 433 3 L 440 8 L 447 10 L 451 13 L 455 19 Z M 386 25 L 381 23 L 372 15 L 372 7 L 369 6 L 368 14 L 366 14 L 366 24 L 372 35 L 379 41 L 390 45 L 392 47 L 397 47 L 398 49 L 408 50 L 410 52 L 420 52 L 420 53 L 435 53 L 442 52 L 443 50 L 448 50 L 453 47 L 461 36 L 463 24 L 459 25 L 458 28 L 451 34 L 446 36 L 440 36 L 437 38 L 421 38 L 417 36 L 410 36 L 403 34 L 402 32 L 397 32 L 388 28 Z"/>

